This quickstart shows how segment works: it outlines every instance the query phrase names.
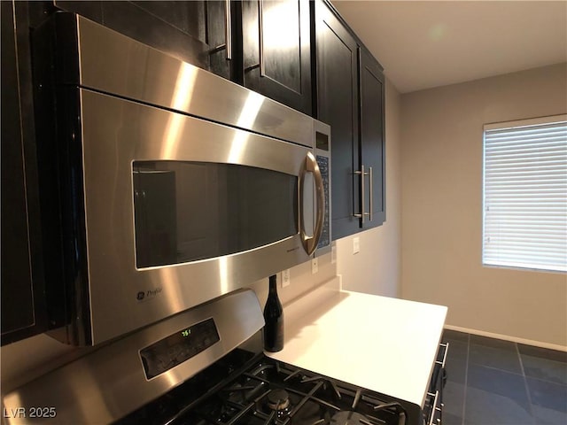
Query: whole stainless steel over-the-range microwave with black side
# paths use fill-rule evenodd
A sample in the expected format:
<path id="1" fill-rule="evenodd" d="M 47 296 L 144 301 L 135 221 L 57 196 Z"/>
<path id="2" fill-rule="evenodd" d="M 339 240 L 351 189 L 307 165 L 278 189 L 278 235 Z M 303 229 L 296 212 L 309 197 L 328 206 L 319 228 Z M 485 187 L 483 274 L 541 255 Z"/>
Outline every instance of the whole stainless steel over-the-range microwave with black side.
<path id="1" fill-rule="evenodd" d="M 98 344 L 330 250 L 329 126 L 73 14 L 33 54 L 53 336 Z"/>

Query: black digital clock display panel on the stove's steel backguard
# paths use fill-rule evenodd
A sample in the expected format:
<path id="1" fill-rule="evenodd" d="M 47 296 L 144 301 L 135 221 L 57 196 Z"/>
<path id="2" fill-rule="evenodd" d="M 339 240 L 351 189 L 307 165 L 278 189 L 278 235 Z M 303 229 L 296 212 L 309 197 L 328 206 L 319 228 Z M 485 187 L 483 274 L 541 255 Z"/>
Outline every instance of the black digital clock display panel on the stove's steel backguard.
<path id="1" fill-rule="evenodd" d="M 146 378 L 151 379 L 163 374 L 220 340 L 213 319 L 201 321 L 166 336 L 157 343 L 140 350 Z"/>

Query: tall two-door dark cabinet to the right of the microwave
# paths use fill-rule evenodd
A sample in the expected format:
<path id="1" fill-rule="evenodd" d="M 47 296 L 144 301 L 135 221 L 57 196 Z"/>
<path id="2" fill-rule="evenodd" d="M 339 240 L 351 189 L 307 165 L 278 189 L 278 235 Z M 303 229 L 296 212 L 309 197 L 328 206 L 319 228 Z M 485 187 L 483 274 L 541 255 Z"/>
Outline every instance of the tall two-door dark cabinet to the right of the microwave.
<path id="1" fill-rule="evenodd" d="M 330 125 L 333 239 L 385 220 L 384 74 L 334 8 L 315 3 L 317 119 Z"/>

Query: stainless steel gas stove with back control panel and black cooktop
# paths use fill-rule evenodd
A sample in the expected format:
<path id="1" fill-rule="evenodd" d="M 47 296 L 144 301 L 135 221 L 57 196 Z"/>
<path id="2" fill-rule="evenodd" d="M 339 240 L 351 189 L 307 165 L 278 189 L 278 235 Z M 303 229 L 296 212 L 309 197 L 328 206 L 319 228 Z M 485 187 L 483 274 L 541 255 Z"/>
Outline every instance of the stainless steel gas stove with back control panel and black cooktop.
<path id="1" fill-rule="evenodd" d="M 252 290 L 237 290 L 105 344 L 12 390 L 3 399 L 4 421 L 10 425 L 426 423 L 418 406 L 269 359 L 261 352 L 257 332 L 263 325 L 258 298 Z"/>

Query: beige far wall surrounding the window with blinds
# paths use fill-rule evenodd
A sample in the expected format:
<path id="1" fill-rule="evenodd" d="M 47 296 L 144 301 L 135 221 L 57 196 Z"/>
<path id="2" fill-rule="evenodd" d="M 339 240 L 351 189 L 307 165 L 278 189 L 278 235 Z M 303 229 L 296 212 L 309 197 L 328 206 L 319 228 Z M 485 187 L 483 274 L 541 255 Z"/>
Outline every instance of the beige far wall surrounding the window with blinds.
<path id="1" fill-rule="evenodd" d="M 567 112 L 567 66 L 401 97 L 402 298 L 447 324 L 567 346 L 565 274 L 482 266 L 483 124 Z"/>

